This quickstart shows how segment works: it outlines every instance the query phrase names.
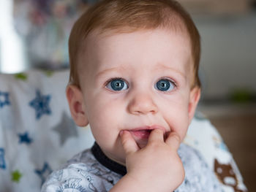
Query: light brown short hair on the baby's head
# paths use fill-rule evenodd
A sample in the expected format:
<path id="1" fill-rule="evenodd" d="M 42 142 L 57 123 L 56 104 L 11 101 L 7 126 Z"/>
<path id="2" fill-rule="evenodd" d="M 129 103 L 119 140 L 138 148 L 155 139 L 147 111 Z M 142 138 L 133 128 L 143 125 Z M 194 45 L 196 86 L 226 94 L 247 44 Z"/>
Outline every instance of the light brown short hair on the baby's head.
<path id="1" fill-rule="evenodd" d="M 103 0 L 90 7 L 76 21 L 69 37 L 69 83 L 80 86 L 78 53 L 92 31 L 132 32 L 160 27 L 187 30 L 194 63 L 192 88 L 200 87 L 200 34 L 188 12 L 173 0 Z"/>

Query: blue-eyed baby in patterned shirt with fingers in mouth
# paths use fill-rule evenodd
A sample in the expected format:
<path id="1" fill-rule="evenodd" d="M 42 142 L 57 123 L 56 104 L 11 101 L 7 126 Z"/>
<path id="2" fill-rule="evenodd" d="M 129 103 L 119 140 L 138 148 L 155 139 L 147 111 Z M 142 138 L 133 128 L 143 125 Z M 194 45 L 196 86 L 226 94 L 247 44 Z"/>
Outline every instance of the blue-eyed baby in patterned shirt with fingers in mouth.
<path id="1" fill-rule="evenodd" d="M 176 1 L 99 1 L 73 26 L 69 58 L 69 109 L 96 142 L 42 191 L 222 191 L 181 143 L 200 99 L 200 35 Z"/>

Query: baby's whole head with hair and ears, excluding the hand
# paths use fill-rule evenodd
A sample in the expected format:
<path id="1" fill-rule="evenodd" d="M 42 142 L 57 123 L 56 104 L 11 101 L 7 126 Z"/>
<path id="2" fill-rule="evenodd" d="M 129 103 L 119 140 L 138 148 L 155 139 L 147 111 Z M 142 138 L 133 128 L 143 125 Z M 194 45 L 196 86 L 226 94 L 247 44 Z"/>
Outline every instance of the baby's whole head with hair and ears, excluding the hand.
<path id="1" fill-rule="evenodd" d="M 139 147 L 153 128 L 184 139 L 200 98 L 200 35 L 176 1 L 100 1 L 72 28 L 69 58 L 72 118 L 109 158 L 124 164 L 123 130 Z"/>

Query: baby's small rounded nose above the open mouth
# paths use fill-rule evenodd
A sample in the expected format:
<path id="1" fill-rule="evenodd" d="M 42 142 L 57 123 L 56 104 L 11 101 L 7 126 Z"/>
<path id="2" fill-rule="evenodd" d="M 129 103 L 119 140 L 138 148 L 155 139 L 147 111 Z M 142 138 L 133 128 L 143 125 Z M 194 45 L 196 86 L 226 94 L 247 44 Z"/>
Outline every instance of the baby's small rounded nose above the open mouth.
<path id="1" fill-rule="evenodd" d="M 146 115 L 157 113 L 158 108 L 148 93 L 137 93 L 129 101 L 128 110 L 135 115 Z"/>

